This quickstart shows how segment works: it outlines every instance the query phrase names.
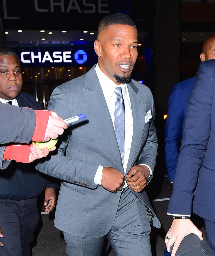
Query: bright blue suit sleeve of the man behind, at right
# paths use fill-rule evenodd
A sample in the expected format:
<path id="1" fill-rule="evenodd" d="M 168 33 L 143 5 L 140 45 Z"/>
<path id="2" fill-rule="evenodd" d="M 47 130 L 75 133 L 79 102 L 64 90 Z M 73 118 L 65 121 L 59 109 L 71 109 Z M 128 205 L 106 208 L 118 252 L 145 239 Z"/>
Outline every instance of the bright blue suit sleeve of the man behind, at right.
<path id="1" fill-rule="evenodd" d="M 180 89 L 177 84 L 173 87 L 168 101 L 167 118 L 165 124 L 165 161 L 169 182 L 175 176 L 178 162 L 179 140 L 183 121 L 183 104 Z"/>

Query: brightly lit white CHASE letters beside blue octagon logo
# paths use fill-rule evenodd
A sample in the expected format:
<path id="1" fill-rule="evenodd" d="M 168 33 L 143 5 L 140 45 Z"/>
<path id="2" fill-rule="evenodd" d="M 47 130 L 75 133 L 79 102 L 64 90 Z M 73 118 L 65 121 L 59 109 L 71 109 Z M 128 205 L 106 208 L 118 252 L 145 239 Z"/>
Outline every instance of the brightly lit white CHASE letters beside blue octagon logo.
<path id="1" fill-rule="evenodd" d="M 63 57 L 62 57 L 63 54 Z M 33 51 L 23 51 L 20 54 L 20 59 L 22 63 L 34 63 L 35 59 L 38 59 L 39 63 L 44 63 L 45 61 L 48 61 L 50 63 L 52 62 L 72 62 L 71 60 L 71 51 L 54 51 L 52 56 L 48 51 L 44 53 L 43 56 L 41 56 L 41 52 L 38 51 L 37 53 Z"/>

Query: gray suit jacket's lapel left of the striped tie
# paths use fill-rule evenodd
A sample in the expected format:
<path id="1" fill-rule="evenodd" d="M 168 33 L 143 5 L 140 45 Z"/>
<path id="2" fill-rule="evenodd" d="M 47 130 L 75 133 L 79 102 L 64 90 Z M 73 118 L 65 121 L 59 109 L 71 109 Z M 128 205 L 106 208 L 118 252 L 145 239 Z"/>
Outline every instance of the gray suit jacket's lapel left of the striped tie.
<path id="1" fill-rule="evenodd" d="M 86 75 L 85 88 L 82 88 L 82 92 L 95 120 L 97 121 L 99 130 L 102 133 L 102 138 L 106 141 L 106 145 L 104 146 L 110 148 L 113 156 L 121 165 L 121 171 L 123 172 L 121 154 L 116 140 L 113 123 L 94 67 Z"/>

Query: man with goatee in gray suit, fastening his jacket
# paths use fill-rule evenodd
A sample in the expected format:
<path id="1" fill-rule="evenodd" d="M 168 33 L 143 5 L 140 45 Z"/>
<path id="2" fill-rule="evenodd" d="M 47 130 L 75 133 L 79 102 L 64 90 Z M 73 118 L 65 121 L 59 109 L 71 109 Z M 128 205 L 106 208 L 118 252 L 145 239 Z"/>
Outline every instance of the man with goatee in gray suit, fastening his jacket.
<path id="1" fill-rule="evenodd" d="M 129 16 L 104 17 L 94 42 L 98 64 L 55 88 L 48 104 L 62 118 L 86 114 L 37 167 L 63 180 L 54 226 L 68 255 L 99 256 L 105 236 L 117 256 L 151 255 L 150 223 L 160 222 L 144 188 L 158 143 L 151 91 L 131 79 L 137 45 Z"/>

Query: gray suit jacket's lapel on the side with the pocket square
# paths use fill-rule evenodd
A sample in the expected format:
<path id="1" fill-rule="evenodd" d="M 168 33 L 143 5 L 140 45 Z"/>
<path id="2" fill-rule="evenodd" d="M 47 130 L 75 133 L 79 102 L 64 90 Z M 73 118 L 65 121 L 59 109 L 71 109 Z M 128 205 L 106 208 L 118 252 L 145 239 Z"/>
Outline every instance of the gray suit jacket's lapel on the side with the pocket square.
<path id="1" fill-rule="evenodd" d="M 144 95 L 142 91 L 135 86 L 133 82 L 128 84 L 128 92 L 132 107 L 132 116 L 133 116 L 133 136 L 130 155 L 128 159 L 128 165 L 126 169 L 126 175 L 130 168 L 133 166 L 140 141 L 142 138 L 142 133 L 145 125 L 145 113 L 146 113 L 146 104 L 144 101 Z"/>

